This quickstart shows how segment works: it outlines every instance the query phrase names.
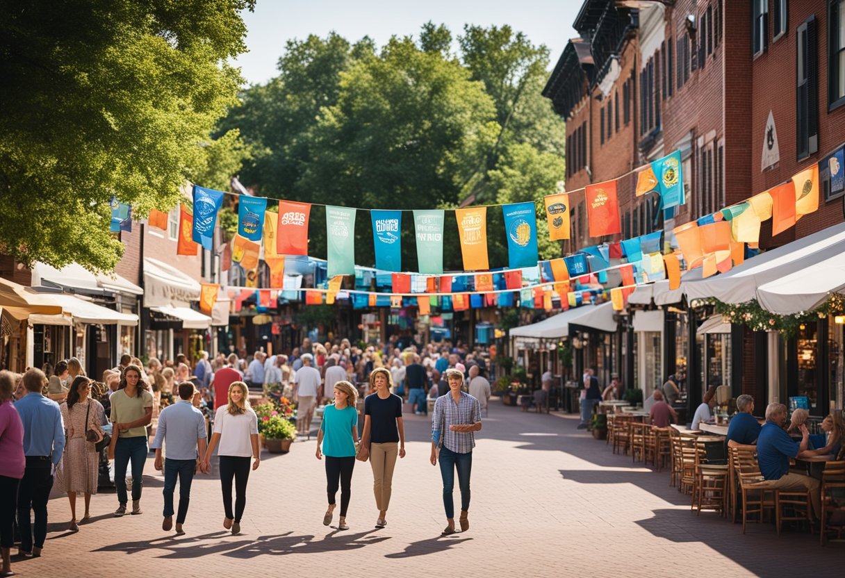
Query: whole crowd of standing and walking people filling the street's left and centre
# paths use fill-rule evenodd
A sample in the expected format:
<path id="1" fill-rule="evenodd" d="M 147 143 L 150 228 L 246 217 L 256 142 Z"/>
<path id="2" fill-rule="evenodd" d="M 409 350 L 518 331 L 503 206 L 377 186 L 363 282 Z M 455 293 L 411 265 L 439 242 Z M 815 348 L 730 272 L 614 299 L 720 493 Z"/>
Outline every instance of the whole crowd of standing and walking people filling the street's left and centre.
<path id="1" fill-rule="evenodd" d="M 115 517 L 140 515 L 144 466 L 155 450 L 155 470 L 164 474 L 162 529 L 184 534 L 194 474 L 209 473 L 216 455 L 223 495 L 223 526 L 240 532 L 249 473 L 260 465 L 258 418 L 251 395 L 288 396 L 297 406 L 297 434 L 309 438 L 313 413 L 324 406 L 316 456 L 324 460 L 330 525 L 341 490 L 338 528 L 345 530 L 356 461 L 369 461 L 378 517 L 387 525 L 391 480 L 404 458 L 403 404 L 417 415 L 433 408 L 431 456 L 443 481 L 443 532 L 456 532 L 452 499 L 455 470 L 461 492 L 461 531 L 469 529 L 470 472 L 474 432 L 481 429 L 490 398 L 489 361 L 480 350 L 428 344 L 400 348 L 395 341 L 365 348 L 344 339 L 324 345 L 305 339 L 289 355 L 232 353 L 194 363 L 180 354 L 173 362 L 123 355 L 101 381 L 85 375 L 76 358 L 0 371 L 0 575 L 11 575 L 17 524 L 19 556 L 41 556 L 46 539 L 47 500 L 53 485 L 68 496 L 78 532 L 90 520 L 101 456 L 114 462 Z M 358 399 L 363 397 L 363 434 L 358 439 Z M 211 425 L 209 431 L 208 426 Z M 150 434 L 155 438 L 149 444 Z M 103 458 L 105 459 L 105 458 Z M 127 487 L 127 473 L 131 489 Z M 174 494 L 179 485 L 179 502 Z M 232 504 L 234 491 L 234 504 Z M 85 510 L 77 514 L 82 493 Z M 130 508 L 129 494 L 132 504 Z M 34 514 L 34 520 L 33 520 Z"/>

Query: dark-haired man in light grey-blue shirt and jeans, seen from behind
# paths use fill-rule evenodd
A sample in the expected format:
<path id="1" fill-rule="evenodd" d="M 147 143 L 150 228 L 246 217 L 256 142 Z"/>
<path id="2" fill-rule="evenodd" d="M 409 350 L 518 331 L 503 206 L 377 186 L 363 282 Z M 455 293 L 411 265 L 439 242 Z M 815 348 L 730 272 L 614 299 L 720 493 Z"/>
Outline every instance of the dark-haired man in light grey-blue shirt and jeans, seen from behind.
<path id="1" fill-rule="evenodd" d="M 182 536 L 188 504 L 191 499 L 191 483 L 199 468 L 207 473 L 200 458 L 205 455 L 205 417 L 194 407 L 194 395 L 199 393 L 193 383 L 179 384 L 179 401 L 161 410 L 158 428 L 152 447 L 155 449 L 155 469 L 164 470 L 164 521 L 161 529 L 170 532 L 173 527 L 173 491 L 179 480 L 179 512 L 176 515 L 176 534 Z M 162 459 L 161 448 L 167 445 L 166 458 Z M 202 467 L 200 467 L 202 466 Z"/>

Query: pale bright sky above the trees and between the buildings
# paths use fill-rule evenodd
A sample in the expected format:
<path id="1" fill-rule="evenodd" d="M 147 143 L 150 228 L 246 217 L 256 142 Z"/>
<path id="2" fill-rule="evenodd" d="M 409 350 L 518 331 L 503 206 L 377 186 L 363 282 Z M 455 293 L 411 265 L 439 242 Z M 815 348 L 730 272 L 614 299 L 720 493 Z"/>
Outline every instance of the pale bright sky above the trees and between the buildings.
<path id="1" fill-rule="evenodd" d="M 548 46 L 553 66 L 566 41 L 576 35 L 572 22 L 579 8 L 578 0 L 258 0 L 254 13 L 243 14 L 249 52 L 236 64 L 248 84 L 263 83 L 275 76 L 275 64 L 292 38 L 325 36 L 334 30 L 349 41 L 369 35 L 381 46 L 391 35 L 416 36 L 431 20 L 446 25 L 453 35 L 465 24 L 510 25 L 534 44 Z"/>

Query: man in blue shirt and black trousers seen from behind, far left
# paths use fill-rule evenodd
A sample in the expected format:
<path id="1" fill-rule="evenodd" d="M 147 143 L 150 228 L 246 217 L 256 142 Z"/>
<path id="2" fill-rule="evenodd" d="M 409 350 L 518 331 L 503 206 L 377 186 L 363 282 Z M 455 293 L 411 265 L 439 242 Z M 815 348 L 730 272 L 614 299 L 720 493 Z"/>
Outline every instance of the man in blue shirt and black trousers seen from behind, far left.
<path id="1" fill-rule="evenodd" d="M 24 374 L 27 394 L 14 408 L 24 424 L 26 468 L 18 488 L 18 529 L 22 556 L 41 556 L 47 536 L 47 500 L 53 484 L 53 472 L 62 461 L 64 424 L 55 401 L 41 395 L 47 384 L 41 369 Z M 30 514 L 35 512 L 35 523 Z"/>

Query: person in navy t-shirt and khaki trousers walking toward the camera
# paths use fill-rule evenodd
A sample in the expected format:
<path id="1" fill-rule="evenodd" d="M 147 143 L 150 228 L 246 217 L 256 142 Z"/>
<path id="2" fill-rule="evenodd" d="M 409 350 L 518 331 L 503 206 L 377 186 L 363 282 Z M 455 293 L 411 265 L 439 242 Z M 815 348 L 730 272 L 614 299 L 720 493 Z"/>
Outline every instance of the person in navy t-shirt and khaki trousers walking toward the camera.
<path id="1" fill-rule="evenodd" d="M 405 457 L 405 427 L 402 424 L 402 398 L 391 394 L 393 379 L 386 368 L 370 374 L 375 393 L 364 399 L 364 428 L 357 459 L 367 461 L 373 468 L 373 493 L 379 518 L 375 527 L 387 526 L 391 482 L 396 456 Z"/>

